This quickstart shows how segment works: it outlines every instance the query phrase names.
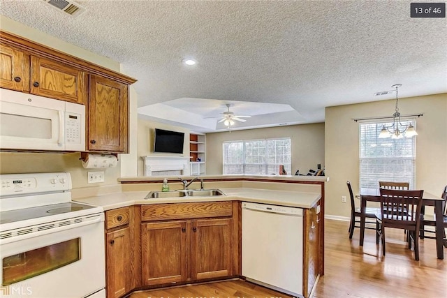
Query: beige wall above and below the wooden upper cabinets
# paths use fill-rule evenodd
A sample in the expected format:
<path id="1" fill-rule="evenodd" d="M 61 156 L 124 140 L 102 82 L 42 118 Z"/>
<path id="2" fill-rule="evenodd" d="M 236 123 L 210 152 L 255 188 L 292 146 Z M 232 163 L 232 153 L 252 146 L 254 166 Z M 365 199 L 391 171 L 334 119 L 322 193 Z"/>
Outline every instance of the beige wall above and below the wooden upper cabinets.
<path id="1" fill-rule="evenodd" d="M 105 68 L 111 70 L 119 71 L 120 65 L 118 62 L 108 59 L 107 57 L 101 57 L 97 54 L 84 50 L 75 45 L 59 40 L 52 36 L 47 35 L 41 31 L 27 27 L 24 24 L 20 24 L 13 20 L 8 19 L 8 17 L 1 16 L 0 18 L 0 28 L 3 31 L 8 31 L 14 33 L 18 36 L 23 36 L 29 40 L 34 40 L 37 43 L 47 45 L 61 52 L 66 52 L 80 59 L 90 61 L 94 64 L 98 64 Z M 131 91 L 131 107 L 133 107 L 136 102 L 136 94 Z M 134 115 L 131 114 L 131 119 L 136 118 L 136 108 L 133 108 Z M 131 121 L 132 122 L 132 121 Z M 132 127 L 132 126 L 131 126 Z M 131 142 L 135 142 L 131 139 Z M 132 150 L 133 144 L 130 144 Z M 92 170 L 87 170 L 82 167 L 79 161 L 80 154 L 43 154 L 43 153 L 0 153 L 0 173 L 30 173 L 30 172 L 70 172 L 73 188 L 81 188 L 86 186 L 104 186 L 109 184 L 118 184 L 117 178 L 121 177 L 121 156 L 125 154 L 120 154 L 117 167 L 105 169 L 105 181 L 101 184 L 87 184 L 87 172 Z M 129 165 L 126 162 L 126 165 Z M 136 167 L 136 159 L 133 162 L 134 167 Z M 135 171 L 136 172 L 136 171 Z"/>

